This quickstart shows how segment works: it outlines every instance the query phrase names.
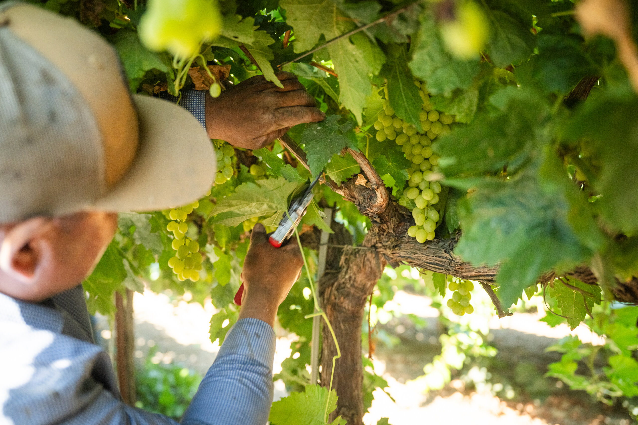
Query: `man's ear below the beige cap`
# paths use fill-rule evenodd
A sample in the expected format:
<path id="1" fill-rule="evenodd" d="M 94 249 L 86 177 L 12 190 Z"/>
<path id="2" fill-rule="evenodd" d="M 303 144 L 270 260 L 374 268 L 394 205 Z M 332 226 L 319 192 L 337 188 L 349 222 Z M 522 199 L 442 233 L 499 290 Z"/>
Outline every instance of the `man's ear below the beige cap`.
<path id="1" fill-rule="evenodd" d="M 0 247 L 0 269 L 11 277 L 29 284 L 35 277 L 42 256 L 38 240 L 50 224 L 49 219 L 35 217 L 11 227 Z"/>

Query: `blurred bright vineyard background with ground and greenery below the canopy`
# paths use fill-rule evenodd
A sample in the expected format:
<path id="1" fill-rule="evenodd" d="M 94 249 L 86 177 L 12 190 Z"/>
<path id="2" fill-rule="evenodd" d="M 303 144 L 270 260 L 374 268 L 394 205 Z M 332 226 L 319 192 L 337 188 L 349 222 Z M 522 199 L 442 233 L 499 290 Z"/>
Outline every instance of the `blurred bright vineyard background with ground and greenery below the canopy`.
<path id="1" fill-rule="evenodd" d="M 597 335 L 586 324 L 570 330 L 563 319 L 547 312 L 553 300 L 546 296 L 548 303 L 544 303 L 542 293 L 519 299 L 514 315 L 498 319 L 479 286 L 473 291 L 475 312 L 458 317 L 445 306 L 431 277 L 401 266 L 386 268 L 378 282 L 362 335 L 367 389 L 364 423 L 385 423 L 382 417 L 394 425 L 422 423 L 424 417 L 433 424 L 468 417 L 477 424 L 634 423 L 637 401 L 610 398 L 604 391 L 603 368 L 615 344 L 609 337 Z M 297 284 L 293 301 L 282 308 L 305 308 L 295 304 L 311 302 L 304 288 Z M 623 312 L 635 328 L 637 307 L 600 308 Z M 138 407 L 181 417 L 219 349 L 219 342 L 209 339 L 208 321 L 216 312 L 211 299 L 194 302 L 191 292 L 158 294 L 147 289 L 135 294 Z M 107 318 L 98 318 L 96 336 L 112 352 Z M 281 326 L 276 331 L 278 399 L 302 388 L 308 379 L 309 347 L 304 336 Z M 561 358 L 569 347 L 577 347 L 581 354 L 596 352 L 593 364 L 584 356 L 577 370 L 590 377 L 590 392 L 598 384 L 591 395 L 570 391 L 563 380 L 547 376 L 548 370 L 565 366 Z M 591 378 L 591 371 L 598 379 Z M 604 403 L 600 397 L 610 401 Z"/>

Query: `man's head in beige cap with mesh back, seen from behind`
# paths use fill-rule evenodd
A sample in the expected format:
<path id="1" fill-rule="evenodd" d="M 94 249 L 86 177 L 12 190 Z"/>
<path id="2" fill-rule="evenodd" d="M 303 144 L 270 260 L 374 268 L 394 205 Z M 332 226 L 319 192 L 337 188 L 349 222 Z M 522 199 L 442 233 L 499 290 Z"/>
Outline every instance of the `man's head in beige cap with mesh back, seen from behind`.
<path id="1" fill-rule="evenodd" d="M 84 278 L 117 212 L 202 196 L 211 141 L 186 110 L 133 95 L 115 50 L 77 22 L 0 4 L 0 291 L 38 301 Z"/>

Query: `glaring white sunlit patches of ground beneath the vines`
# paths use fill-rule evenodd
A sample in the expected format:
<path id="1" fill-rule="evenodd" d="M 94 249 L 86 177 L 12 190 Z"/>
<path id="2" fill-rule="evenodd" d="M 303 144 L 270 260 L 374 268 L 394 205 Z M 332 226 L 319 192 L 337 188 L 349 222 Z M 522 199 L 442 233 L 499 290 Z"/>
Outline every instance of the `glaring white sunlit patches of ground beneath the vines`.
<path id="1" fill-rule="evenodd" d="M 212 304 L 205 303 L 202 307 L 198 303 L 187 303 L 184 300 L 171 301 L 166 294 L 154 294 L 150 291 L 144 294 L 136 293 L 134 301 L 136 356 L 144 357 L 149 347 L 156 347 L 157 351 L 152 359 L 154 363 L 178 361 L 204 375 L 219 350 L 218 343 L 211 343 L 209 340 L 209 321 L 211 315 L 216 312 Z M 431 299 L 427 297 L 397 291 L 394 299 L 389 301 L 384 310 L 434 318 L 438 315 L 438 310 L 432 308 L 430 303 Z M 544 322 L 538 322 L 544 314 L 542 311 L 516 313 L 512 317 L 500 320 L 494 317 L 489 321 L 489 328 L 513 329 L 521 333 L 549 338 L 562 338 L 572 334 L 578 335 L 583 342 L 602 343 L 597 339 L 598 336 L 592 335 L 583 325 L 570 331 L 567 325 L 551 328 Z M 402 329 L 398 331 L 401 332 Z M 419 338 L 423 339 L 423 336 L 417 335 L 417 339 Z M 285 335 L 284 331 L 279 331 L 274 373 L 281 371 L 281 362 L 290 355 L 290 343 L 294 340 L 295 335 Z M 590 417 L 584 422 L 563 422 L 561 417 L 567 421 L 570 410 L 574 410 L 574 406 L 569 403 L 564 406 L 559 403 L 557 407 L 553 407 L 551 415 L 553 419 L 547 422 L 540 417 L 535 417 L 542 415 L 538 414 L 539 407 L 532 402 L 512 403 L 512 401 L 501 400 L 487 389 L 482 393 L 470 393 L 464 391 L 461 381 L 452 381 L 447 389 L 440 392 L 440 395 L 432 396 L 431 394 L 428 398 L 419 380 L 403 378 L 397 380 L 386 370 L 387 365 L 382 359 L 375 359 L 374 364 L 376 373 L 387 380 L 388 392 L 395 401 L 392 401 L 383 391 L 375 391 L 373 405 L 364 417 L 366 425 L 376 424 L 381 417 L 389 417 L 389 422 L 394 425 L 449 424 L 455 421 L 490 425 L 629 424 L 628 421 L 625 422 L 625 419 L 611 421 L 604 415 Z M 285 396 L 283 382 L 276 382 L 275 389 L 275 398 Z"/>

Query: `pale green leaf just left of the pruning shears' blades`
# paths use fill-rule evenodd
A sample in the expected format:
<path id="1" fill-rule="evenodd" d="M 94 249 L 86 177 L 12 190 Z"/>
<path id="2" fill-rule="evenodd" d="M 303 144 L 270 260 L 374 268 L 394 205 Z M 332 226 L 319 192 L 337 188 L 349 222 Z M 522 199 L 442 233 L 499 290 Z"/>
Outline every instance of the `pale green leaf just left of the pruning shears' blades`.
<path id="1" fill-rule="evenodd" d="M 244 220 L 288 209 L 288 197 L 297 184 L 285 178 L 268 178 L 237 186 L 235 193 L 218 201 L 211 212 L 212 224 L 237 226 Z"/>

